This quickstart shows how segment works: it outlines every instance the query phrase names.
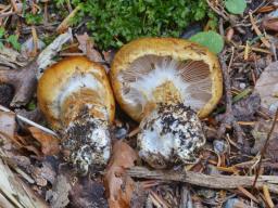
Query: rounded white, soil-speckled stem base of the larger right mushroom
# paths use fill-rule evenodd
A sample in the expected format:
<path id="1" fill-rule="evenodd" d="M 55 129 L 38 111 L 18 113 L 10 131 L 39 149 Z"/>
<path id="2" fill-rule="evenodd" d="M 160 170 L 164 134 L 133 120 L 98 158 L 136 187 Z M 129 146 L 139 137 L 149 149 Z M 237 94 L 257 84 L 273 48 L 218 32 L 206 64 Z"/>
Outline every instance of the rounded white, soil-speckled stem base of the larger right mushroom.
<path id="1" fill-rule="evenodd" d="M 201 121 L 184 104 L 160 105 L 140 123 L 139 155 L 154 168 L 192 161 L 204 143 Z"/>

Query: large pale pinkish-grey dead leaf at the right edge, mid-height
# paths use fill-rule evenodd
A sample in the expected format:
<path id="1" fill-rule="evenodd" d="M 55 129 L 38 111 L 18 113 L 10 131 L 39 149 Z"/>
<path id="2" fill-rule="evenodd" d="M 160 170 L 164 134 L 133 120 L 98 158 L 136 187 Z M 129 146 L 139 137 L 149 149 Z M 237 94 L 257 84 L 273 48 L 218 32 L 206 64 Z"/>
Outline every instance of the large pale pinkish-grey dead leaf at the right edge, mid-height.
<path id="1" fill-rule="evenodd" d="M 274 114 L 278 107 L 278 62 L 264 69 L 256 81 L 254 92 L 261 96 L 261 106 Z"/>

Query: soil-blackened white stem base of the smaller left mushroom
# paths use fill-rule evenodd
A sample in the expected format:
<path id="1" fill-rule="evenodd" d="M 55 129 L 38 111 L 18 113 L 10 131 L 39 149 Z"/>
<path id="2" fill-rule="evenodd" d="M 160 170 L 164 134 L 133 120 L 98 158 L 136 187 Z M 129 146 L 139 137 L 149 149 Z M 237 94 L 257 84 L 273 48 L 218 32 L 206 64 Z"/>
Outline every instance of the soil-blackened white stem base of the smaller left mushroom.
<path id="1" fill-rule="evenodd" d="M 93 171 L 103 168 L 111 155 L 109 123 L 89 115 L 71 122 L 65 130 L 63 147 L 70 151 L 70 161 L 81 174 L 91 167 Z"/>

